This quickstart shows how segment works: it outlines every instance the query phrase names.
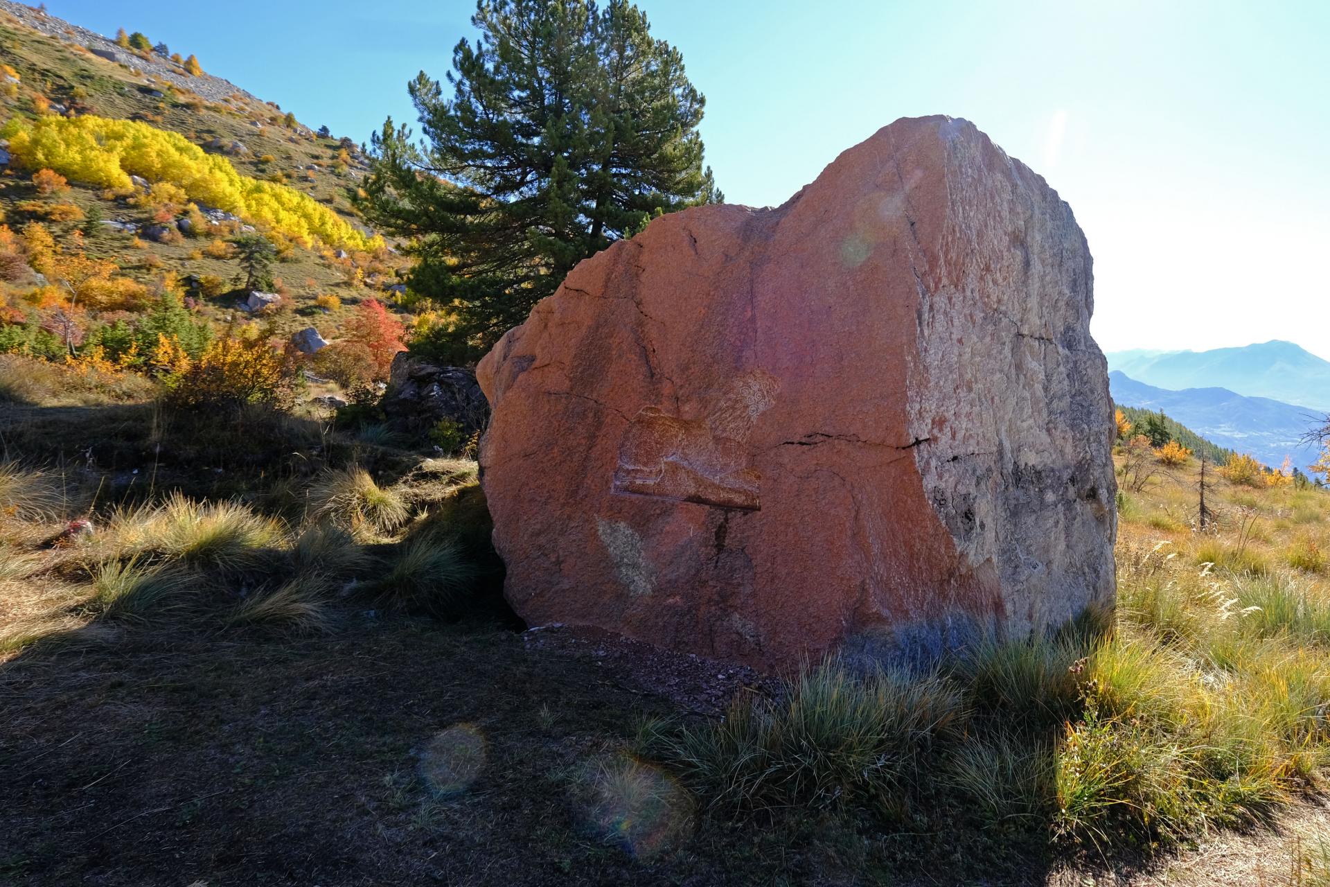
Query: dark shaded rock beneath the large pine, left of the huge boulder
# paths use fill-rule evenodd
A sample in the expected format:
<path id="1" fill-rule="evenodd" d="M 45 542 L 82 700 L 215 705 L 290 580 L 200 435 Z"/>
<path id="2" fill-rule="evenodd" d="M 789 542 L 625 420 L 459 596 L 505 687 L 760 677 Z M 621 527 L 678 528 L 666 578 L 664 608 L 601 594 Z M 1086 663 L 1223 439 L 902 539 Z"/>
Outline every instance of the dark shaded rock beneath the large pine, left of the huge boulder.
<path id="1" fill-rule="evenodd" d="M 388 424 L 399 431 L 424 434 L 442 419 L 452 419 L 463 434 L 483 431 L 489 404 L 467 367 L 446 367 L 403 351 L 392 359 L 383 395 Z"/>

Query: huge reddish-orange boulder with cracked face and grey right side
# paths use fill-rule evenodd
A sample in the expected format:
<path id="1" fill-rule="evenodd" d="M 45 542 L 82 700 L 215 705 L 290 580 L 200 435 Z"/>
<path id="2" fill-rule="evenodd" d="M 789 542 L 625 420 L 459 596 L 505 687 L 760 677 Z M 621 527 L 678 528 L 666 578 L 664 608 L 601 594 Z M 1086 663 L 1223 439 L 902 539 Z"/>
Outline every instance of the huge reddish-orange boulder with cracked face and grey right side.
<path id="1" fill-rule="evenodd" d="M 963 120 L 654 219 L 480 363 L 509 602 L 769 669 L 1111 605 L 1091 310 L 1071 209 Z"/>

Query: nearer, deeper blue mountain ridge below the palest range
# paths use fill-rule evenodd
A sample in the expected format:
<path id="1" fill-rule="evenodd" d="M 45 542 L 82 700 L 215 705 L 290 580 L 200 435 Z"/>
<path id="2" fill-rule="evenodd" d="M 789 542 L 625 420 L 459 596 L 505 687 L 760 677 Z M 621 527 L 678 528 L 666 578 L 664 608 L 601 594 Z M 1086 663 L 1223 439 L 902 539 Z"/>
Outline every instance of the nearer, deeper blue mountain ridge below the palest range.
<path id="1" fill-rule="evenodd" d="M 1290 456 L 1293 464 L 1302 469 L 1317 460 L 1317 448 L 1301 442 L 1302 435 L 1318 424 L 1314 411 L 1307 407 L 1270 398 L 1246 398 L 1228 388 L 1169 391 L 1137 382 L 1120 370 L 1108 374 L 1108 384 L 1115 403 L 1162 410 L 1208 440 L 1252 453 L 1273 468 L 1285 456 Z"/>

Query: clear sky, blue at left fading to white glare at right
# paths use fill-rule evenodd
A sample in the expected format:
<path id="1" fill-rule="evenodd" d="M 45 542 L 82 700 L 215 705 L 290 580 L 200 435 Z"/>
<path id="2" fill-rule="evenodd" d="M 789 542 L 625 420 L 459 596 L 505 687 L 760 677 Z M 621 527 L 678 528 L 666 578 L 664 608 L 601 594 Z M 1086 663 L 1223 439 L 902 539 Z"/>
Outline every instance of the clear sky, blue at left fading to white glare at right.
<path id="1" fill-rule="evenodd" d="M 412 120 L 468 0 L 125 3 L 142 31 L 311 125 Z M 1105 350 L 1291 339 L 1330 358 L 1330 3 L 638 0 L 706 94 L 732 202 L 781 203 L 896 117 L 972 120 L 1059 190 L 1095 254 Z"/>

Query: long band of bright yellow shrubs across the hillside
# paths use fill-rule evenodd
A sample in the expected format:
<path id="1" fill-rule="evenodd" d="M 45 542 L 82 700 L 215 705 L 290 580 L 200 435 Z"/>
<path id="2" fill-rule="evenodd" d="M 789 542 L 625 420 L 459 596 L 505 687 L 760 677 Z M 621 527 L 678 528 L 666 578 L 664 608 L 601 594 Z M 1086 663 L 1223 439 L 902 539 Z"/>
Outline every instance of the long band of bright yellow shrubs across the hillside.
<path id="1" fill-rule="evenodd" d="M 367 238 L 309 194 L 241 176 L 225 157 L 203 152 L 180 133 L 140 121 L 93 114 L 31 121 L 15 117 L 0 128 L 0 138 L 9 140 L 9 152 L 28 169 L 51 169 L 110 189 L 129 189 L 129 177 L 141 176 L 289 238 L 356 250 L 382 243 L 382 238 Z"/>

